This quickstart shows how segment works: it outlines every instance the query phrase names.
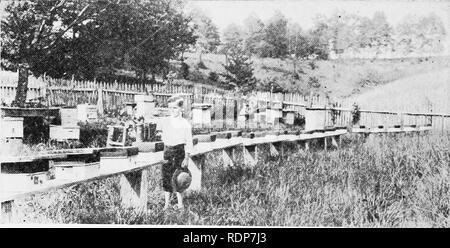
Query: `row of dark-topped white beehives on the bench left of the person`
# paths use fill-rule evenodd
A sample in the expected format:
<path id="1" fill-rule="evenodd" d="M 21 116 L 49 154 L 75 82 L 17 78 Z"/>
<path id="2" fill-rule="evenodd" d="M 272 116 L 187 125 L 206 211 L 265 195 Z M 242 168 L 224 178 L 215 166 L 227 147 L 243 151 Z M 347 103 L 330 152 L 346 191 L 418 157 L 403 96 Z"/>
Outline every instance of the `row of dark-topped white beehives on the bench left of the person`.
<path id="1" fill-rule="evenodd" d="M 101 148 L 63 156 L 42 155 L 0 161 L 0 187 L 4 191 L 27 191 L 57 180 L 82 180 L 132 169 L 138 149 Z"/>

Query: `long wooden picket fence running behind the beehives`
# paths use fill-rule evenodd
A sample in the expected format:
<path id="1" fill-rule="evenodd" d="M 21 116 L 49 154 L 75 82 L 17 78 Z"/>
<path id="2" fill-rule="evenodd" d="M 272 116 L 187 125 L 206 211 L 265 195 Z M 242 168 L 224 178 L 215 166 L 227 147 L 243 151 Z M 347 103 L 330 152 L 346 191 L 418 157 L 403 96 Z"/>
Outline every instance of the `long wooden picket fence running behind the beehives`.
<path id="1" fill-rule="evenodd" d="M 14 100 L 17 87 L 17 74 L 2 74 L 0 78 L 0 101 L 6 104 Z M 192 103 L 209 103 L 212 105 L 213 128 L 235 128 L 237 117 L 244 104 L 265 111 L 271 104 L 279 103 L 284 110 L 294 110 L 305 115 L 307 107 L 323 108 L 326 111 L 325 126 L 344 127 L 353 125 L 352 109 L 332 107 L 329 100 L 321 95 L 301 95 L 295 93 L 255 92 L 244 99 L 236 92 L 218 89 L 213 86 L 194 84 L 186 80 L 175 80 L 166 84 L 98 82 L 52 79 L 48 77 L 29 77 L 27 99 L 44 98 L 47 106 L 76 106 L 77 104 L 102 104 L 104 112 L 118 111 L 126 103 L 134 102 L 138 94 L 152 93 L 157 107 L 165 106 L 167 99 L 182 93 L 187 102 L 186 115 L 190 116 Z M 102 101 L 99 101 L 101 96 Z M 334 106 L 342 104 L 334 104 Z M 450 129 L 448 114 L 443 113 L 410 113 L 394 111 L 361 110 L 357 125 L 367 127 L 394 125 L 432 125 L 435 129 Z M 257 124 L 250 123 L 250 127 Z"/>

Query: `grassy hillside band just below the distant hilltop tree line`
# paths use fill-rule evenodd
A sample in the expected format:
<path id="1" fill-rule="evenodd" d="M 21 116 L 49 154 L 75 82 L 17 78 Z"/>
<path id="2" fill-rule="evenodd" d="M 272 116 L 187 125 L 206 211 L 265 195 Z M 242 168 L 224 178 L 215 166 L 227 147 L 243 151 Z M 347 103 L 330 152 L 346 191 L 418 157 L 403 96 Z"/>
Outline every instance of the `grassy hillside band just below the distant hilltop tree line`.
<path id="1" fill-rule="evenodd" d="M 198 55 L 186 54 L 186 63 L 191 71 L 202 74 L 205 78 L 213 71 L 224 73 L 225 56 L 204 54 L 203 63 L 207 69 L 197 69 Z M 275 79 L 289 91 L 308 92 L 311 89 L 326 92 L 332 98 L 349 98 L 370 91 L 406 76 L 426 73 L 450 67 L 450 57 L 428 59 L 408 58 L 394 60 L 343 59 L 303 61 L 296 63 L 299 79 L 294 79 L 294 65 L 291 59 L 252 58 L 256 78 L 260 80 Z M 317 79 L 318 88 L 310 82 Z"/>

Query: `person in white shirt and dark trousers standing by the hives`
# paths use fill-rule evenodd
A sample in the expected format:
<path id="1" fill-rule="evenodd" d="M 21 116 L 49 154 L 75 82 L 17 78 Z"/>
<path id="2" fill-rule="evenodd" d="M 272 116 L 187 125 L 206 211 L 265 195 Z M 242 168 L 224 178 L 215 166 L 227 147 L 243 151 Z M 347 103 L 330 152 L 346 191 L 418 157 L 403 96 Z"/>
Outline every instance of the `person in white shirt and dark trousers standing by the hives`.
<path id="1" fill-rule="evenodd" d="M 164 142 L 164 160 L 162 165 L 162 187 L 164 190 L 164 209 L 170 206 L 171 193 L 176 189 L 172 187 L 172 176 L 177 169 L 187 168 L 189 154 L 193 149 L 192 127 L 182 116 L 184 100 L 181 96 L 172 96 L 168 100 L 170 116 L 161 123 L 161 139 Z M 184 209 L 183 196 L 176 192 L 178 209 Z"/>

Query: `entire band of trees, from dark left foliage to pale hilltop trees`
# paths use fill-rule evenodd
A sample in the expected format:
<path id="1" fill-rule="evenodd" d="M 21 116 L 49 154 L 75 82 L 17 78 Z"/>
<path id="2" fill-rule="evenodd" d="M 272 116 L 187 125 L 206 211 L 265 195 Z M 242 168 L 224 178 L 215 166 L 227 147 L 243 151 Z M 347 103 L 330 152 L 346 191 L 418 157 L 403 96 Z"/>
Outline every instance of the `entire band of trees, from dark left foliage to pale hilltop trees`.
<path id="1" fill-rule="evenodd" d="M 248 92 L 255 88 L 252 58 L 326 60 L 331 53 L 372 49 L 438 53 L 446 31 L 442 20 L 409 16 L 393 27 L 383 12 L 363 17 L 345 12 L 318 16 L 308 30 L 281 12 L 263 21 L 252 14 L 220 33 L 201 11 L 185 13 L 183 0 L 26 0 L 11 1 L 1 21 L 1 65 L 36 76 L 93 79 L 134 71 L 138 78 L 163 77 L 184 53 L 226 56 L 226 73 L 210 75 Z M 19 73 L 20 74 L 20 73 Z M 20 81 L 20 77 L 19 77 Z"/>

